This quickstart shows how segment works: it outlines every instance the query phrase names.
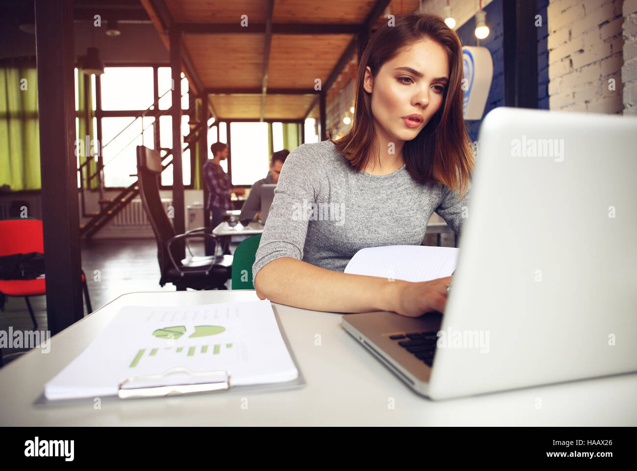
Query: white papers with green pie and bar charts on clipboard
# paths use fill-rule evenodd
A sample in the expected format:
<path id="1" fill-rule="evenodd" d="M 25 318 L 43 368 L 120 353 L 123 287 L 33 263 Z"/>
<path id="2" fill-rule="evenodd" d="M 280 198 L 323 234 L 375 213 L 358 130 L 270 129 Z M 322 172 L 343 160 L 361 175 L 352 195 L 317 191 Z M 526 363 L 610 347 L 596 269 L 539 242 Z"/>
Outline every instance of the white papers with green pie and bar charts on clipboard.
<path id="1" fill-rule="evenodd" d="M 45 396 L 113 396 L 125 378 L 178 366 L 228 371 L 231 385 L 285 382 L 299 375 L 267 299 L 124 306 L 82 354 L 45 384 Z M 175 384 L 174 379 L 165 384 Z"/>

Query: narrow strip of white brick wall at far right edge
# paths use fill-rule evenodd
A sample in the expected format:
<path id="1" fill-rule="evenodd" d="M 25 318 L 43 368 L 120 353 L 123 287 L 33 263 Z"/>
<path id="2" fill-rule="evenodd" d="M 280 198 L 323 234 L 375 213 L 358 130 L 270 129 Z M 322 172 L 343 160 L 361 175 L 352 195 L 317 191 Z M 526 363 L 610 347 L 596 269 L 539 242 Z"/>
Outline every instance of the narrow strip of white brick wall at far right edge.
<path id="1" fill-rule="evenodd" d="M 624 64 L 621 82 L 624 88 L 624 114 L 637 115 L 637 0 L 624 0 L 623 14 Z"/>

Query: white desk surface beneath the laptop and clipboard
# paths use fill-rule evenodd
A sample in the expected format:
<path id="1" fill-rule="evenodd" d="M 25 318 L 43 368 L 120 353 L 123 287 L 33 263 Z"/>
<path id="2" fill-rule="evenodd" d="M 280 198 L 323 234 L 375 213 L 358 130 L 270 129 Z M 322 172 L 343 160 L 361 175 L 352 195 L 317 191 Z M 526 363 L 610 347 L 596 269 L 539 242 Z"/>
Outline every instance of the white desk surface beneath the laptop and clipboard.
<path id="1" fill-rule="evenodd" d="M 43 385 L 125 305 L 186 306 L 258 299 L 254 290 L 125 294 L 0 369 L 0 425 L 637 425 L 637 374 L 430 401 L 369 354 L 341 326 L 341 315 L 273 303 L 306 385 L 292 391 L 211 393 L 33 405 Z M 320 334 L 320 345 L 315 345 Z M 241 405 L 247 398 L 247 409 Z M 389 408 L 393 398 L 395 408 Z M 536 409 L 541 398 L 541 409 Z"/>

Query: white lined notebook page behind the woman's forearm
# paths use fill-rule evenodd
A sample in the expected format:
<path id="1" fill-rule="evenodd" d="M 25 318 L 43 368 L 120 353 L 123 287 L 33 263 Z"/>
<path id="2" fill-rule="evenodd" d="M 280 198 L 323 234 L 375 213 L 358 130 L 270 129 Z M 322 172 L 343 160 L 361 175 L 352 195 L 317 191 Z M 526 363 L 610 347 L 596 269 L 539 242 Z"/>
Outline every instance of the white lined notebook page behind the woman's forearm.
<path id="1" fill-rule="evenodd" d="M 459 249 L 424 245 L 369 247 L 356 252 L 345 273 L 405 281 L 429 281 L 454 273 Z"/>

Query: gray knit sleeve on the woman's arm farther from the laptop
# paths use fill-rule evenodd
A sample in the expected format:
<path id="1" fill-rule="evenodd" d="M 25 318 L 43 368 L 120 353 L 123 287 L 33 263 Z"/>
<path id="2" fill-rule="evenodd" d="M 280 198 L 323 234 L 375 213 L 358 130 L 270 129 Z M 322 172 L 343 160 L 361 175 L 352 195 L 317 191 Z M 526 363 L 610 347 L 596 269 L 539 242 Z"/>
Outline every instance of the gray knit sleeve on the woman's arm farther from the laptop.
<path id="1" fill-rule="evenodd" d="M 307 207 L 303 205 L 303 200 L 308 205 L 316 202 L 324 171 L 317 156 L 308 153 L 308 147 L 307 144 L 297 147 L 285 159 L 252 265 L 252 280 L 264 265 L 276 258 L 303 259 L 308 218 L 298 216 L 301 208 Z"/>

